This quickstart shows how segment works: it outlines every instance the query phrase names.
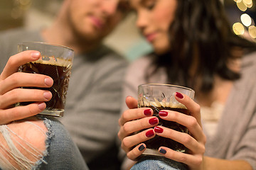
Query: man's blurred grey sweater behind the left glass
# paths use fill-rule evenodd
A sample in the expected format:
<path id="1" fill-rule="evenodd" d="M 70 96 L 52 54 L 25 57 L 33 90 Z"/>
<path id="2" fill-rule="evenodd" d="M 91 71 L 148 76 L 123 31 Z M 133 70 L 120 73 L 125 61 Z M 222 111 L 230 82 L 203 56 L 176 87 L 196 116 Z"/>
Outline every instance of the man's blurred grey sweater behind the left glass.
<path id="1" fill-rule="evenodd" d="M 0 71 L 8 58 L 16 54 L 17 43 L 23 41 L 43 39 L 39 30 L 11 30 L 0 34 Z M 104 45 L 74 57 L 65 113 L 60 120 L 85 161 L 96 162 L 93 165 L 95 169 L 107 169 L 111 162 L 116 164 L 117 161 L 113 158 L 112 149 L 116 145 L 121 86 L 126 66 L 127 60 Z M 104 168 L 96 168 L 97 165 Z"/>

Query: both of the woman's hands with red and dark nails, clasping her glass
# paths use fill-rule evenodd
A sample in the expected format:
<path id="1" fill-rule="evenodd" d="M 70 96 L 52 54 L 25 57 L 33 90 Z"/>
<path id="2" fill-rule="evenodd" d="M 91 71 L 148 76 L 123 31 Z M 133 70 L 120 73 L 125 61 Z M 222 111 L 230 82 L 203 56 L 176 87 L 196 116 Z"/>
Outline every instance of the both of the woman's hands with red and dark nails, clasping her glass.
<path id="1" fill-rule="evenodd" d="M 184 154 L 167 147 L 160 147 L 159 152 L 164 157 L 177 162 L 183 162 L 190 169 L 203 169 L 206 136 L 202 130 L 200 106 L 186 95 L 176 93 L 175 97 L 177 101 L 183 103 L 188 108 L 191 115 L 164 110 L 159 112 L 159 116 L 164 120 L 170 120 L 184 125 L 188 128 L 189 134 L 156 126 L 159 120 L 152 116 L 153 111 L 150 108 L 137 108 L 137 100 L 127 97 L 126 102 L 129 110 L 124 111 L 122 117 L 119 119 L 120 130 L 118 136 L 122 141 L 122 149 L 127 152 L 129 159 L 136 160 L 146 148 L 145 144 L 138 144 L 153 138 L 155 135 L 159 135 L 176 140 L 189 149 L 189 153 Z M 144 131 L 134 134 L 134 132 L 139 130 Z M 134 145 L 138 146 L 134 147 Z"/>

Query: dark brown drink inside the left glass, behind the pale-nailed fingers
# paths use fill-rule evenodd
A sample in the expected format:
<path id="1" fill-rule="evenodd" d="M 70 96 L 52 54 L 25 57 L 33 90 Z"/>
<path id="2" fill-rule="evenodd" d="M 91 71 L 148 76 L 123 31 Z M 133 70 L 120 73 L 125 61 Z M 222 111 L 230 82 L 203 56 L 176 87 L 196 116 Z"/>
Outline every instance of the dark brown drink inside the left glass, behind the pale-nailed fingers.
<path id="1" fill-rule="evenodd" d="M 71 64 L 55 65 L 50 62 L 28 62 L 19 68 L 19 72 L 45 74 L 53 79 L 50 88 L 23 87 L 28 89 L 43 89 L 52 93 L 50 101 L 46 102 L 48 110 L 64 110 L 65 94 L 68 91 L 68 82 L 71 73 Z M 31 102 L 22 102 L 20 105 L 28 105 Z"/>

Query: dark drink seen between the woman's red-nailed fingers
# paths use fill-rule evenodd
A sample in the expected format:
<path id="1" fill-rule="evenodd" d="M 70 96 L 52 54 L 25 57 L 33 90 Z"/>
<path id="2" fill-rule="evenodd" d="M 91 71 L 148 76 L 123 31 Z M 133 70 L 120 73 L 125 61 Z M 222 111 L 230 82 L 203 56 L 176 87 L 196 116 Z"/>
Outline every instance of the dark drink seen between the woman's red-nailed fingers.
<path id="1" fill-rule="evenodd" d="M 188 129 L 185 126 L 180 125 L 176 122 L 169 121 L 169 120 L 163 120 L 159 117 L 159 111 L 161 111 L 161 110 L 177 111 L 177 112 L 189 115 L 189 111 L 188 111 L 187 108 L 170 108 L 170 107 L 163 107 L 163 106 L 161 106 L 161 107 L 140 106 L 140 108 L 145 108 L 145 107 L 153 109 L 154 116 L 159 118 L 159 124 L 158 125 L 176 130 L 178 132 L 188 133 Z M 171 140 L 171 139 L 166 138 L 166 137 L 160 137 L 158 135 L 156 135 L 151 140 L 146 140 L 144 143 L 146 144 L 146 148 L 148 148 L 148 149 L 158 150 L 159 147 L 169 147 L 170 149 L 174 149 L 175 151 L 178 151 L 178 152 L 186 152 L 187 151 L 187 148 L 184 145 L 182 145 L 181 143 L 176 142 L 176 141 Z"/>

